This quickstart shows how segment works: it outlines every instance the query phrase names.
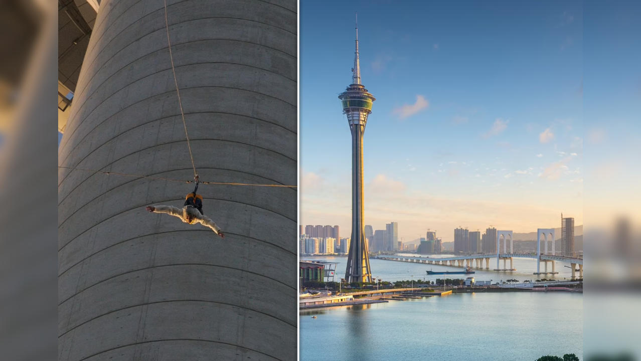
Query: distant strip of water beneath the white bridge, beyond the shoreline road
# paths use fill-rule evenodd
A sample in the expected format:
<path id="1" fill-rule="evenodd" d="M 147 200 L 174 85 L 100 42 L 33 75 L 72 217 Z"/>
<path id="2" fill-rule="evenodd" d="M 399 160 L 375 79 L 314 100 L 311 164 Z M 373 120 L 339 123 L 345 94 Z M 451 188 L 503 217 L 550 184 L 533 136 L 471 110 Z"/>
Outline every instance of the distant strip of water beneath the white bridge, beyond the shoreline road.
<path id="1" fill-rule="evenodd" d="M 338 262 L 336 267 L 337 277 L 336 281 L 339 281 L 341 277 L 345 276 L 345 262 L 347 262 L 347 257 L 301 257 L 301 260 L 324 260 L 328 262 Z M 435 281 L 437 278 L 465 278 L 467 276 L 474 276 L 475 280 L 479 281 L 501 281 L 501 280 L 537 280 L 541 278 L 554 279 L 554 280 L 563 280 L 567 278 L 568 280 L 572 277 L 572 270 L 568 267 L 569 264 L 564 264 L 562 262 L 556 262 L 555 271 L 559 274 L 543 274 L 535 276 L 532 273 L 537 271 L 537 260 L 529 258 L 514 258 L 514 268 L 517 271 L 511 272 L 498 272 L 498 271 L 487 271 L 485 269 L 476 269 L 472 267 L 472 270 L 476 273 L 465 275 L 465 274 L 451 274 L 445 276 L 443 274 L 433 274 L 428 276 L 425 271 L 431 269 L 432 271 L 461 271 L 461 267 L 450 267 L 445 265 L 432 265 L 432 264 L 415 264 L 410 262 L 397 262 L 397 261 L 388 261 L 388 260 L 377 260 L 370 258 L 370 267 L 372 269 L 372 276 L 380 278 L 383 281 L 399 281 L 399 280 L 431 280 Z M 475 263 L 476 264 L 476 263 Z M 499 264 L 503 268 L 503 260 Z M 567 265 L 568 267 L 563 267 Z M 506 262 L 506 266 L 510 267 L 510 262 Z M 483 261 L 483 267 L 485 267 L 485 261 Z M 547 270 L 552 272 L 552 265 L 547 266 Z M 496 268 L 496 258 L 490 258 L 490 269 Z M 541 264 L 541 272 L 544 271 L 544 265 Z M 578 276 L 578 273 L 577 273 Z"/>

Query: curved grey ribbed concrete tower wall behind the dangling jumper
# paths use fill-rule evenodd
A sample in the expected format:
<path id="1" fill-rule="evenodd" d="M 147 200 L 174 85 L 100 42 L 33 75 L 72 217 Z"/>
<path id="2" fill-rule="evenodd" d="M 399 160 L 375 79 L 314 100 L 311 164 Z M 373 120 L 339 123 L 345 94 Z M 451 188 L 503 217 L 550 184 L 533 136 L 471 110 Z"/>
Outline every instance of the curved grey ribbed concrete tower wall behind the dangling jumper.
<path id="1" fill-rule="evenodd" d="M 167 6 L 201 180 L 296 185 L 296 1 Z M 73 107 L 60 165 L 193 178 L 163 0 L 101 2 Z M 201 185 L 225 239 L 144 209 L 192 190 L 60 169 L 60 360 L 296 359 L 296 190 Z"/>

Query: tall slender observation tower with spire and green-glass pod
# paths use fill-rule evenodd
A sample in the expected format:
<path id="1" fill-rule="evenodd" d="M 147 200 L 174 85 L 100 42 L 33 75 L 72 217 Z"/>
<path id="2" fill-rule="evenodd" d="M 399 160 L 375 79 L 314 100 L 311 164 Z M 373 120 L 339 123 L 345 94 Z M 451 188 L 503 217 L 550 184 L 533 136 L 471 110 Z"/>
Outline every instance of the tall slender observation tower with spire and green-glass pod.
<path id="1" fill-rule="evenodd" d="M 358 26 L 356 27 L 356 50 L 352 83 L 338 98 L 347 115 L 352 133 L 352 237 L 347 256 L 345 280 L 348 282 L 371 282 L 369 253 L 365 237 L 365 208 L 363 206 L 363 134 L 367 117 L 372 113 L 372 102 L 376 100 L 361 84 L 360 60 L 358 59 Z"/>

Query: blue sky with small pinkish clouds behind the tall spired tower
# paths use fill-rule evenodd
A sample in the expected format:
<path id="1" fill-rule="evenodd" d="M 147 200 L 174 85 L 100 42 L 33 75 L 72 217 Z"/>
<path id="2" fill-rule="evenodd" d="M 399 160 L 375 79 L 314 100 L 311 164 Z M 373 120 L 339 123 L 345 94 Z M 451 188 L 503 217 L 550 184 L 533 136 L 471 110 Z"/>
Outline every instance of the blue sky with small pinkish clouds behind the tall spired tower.
<path id="1" fill-rule="evenodd" d="M 351 145 L 338 94 L 358 11 L 365 222 L 405 240 L 453 228 L 583 222 L 583 6 L 301 1 L 301 221 L 349 235 Z"/>

